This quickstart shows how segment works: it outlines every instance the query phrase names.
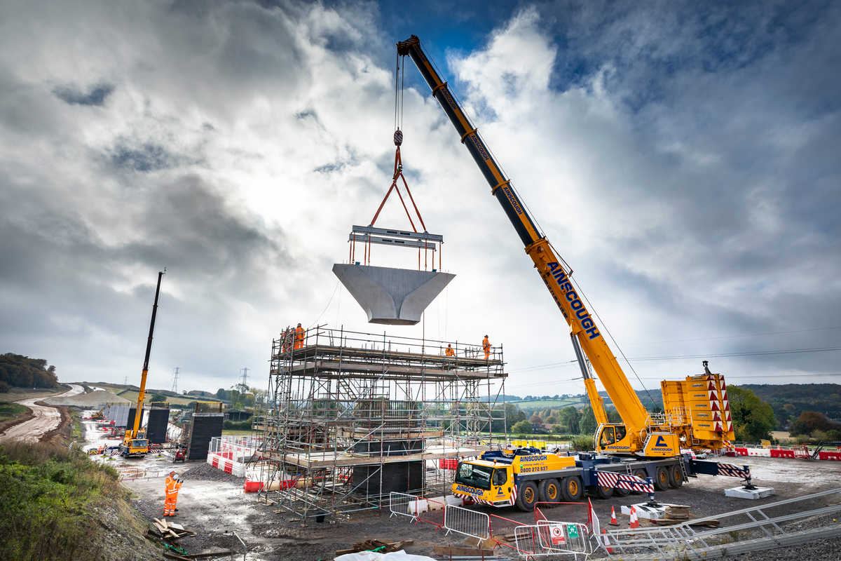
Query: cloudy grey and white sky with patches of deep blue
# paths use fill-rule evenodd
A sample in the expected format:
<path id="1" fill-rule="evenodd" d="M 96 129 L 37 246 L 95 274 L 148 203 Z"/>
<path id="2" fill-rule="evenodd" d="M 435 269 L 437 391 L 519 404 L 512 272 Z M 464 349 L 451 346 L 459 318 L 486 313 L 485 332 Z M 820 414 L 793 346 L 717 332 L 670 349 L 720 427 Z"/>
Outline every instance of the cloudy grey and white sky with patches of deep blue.
<path id="1" fill-rule="evenodd" d="M 0 352 L 137 384 L 163 267 L 153 388 L 175 367 L 264 387 L 299 321 L 382 333 L 331 267 L 389 186 L 410 34 L 635 387 L 705 357 L 731 383 L 841 382 L 833 2 L 0 3 Z M 488 333 L 508 393 L 580 393 L 519 238 L 411 65 L 405 87 L 406 175 L 457 277 L 389 333 Z"/>

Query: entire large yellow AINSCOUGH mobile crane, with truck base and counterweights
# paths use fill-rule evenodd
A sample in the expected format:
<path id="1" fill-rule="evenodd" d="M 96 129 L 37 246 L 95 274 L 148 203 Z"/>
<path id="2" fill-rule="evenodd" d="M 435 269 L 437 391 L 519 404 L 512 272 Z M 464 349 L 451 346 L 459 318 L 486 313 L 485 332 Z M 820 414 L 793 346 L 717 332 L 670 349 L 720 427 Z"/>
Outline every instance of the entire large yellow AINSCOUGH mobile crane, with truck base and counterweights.
<path id="1" fill-rule="evenodd" d="M 397 54 L 399 64 L 409 56 L 421 71 L 567 320 L 587 394 L 599 422 L 595 449 L 600 454 L 578 454 L 573 458 L 537 448 L 490 451 L 477 460 L 458 463 L 452 493 L 489 505 L 516 505 L 530 511 L 538 500 L 580 500 L 584 489 L 600 498 L 607 498 L 615 491 L 621 495 L 632 490 L 653 494 L 655 488 L 680 487 L 687 476 L 695 474 L 740 477 L 749 485 L 748 466 L 705 462 L 680 449 L 681 446 L 721 447 L 724 439 L 733 438 L 723 378 L 710 373 L 705 361 L 705 373 L 701 376 L 686 378 L 684 382 L 664 382 L 664 409 L 670 413 L 649 415 L 574 287 L 572 271 L 556 256 L 546 236 L 537 230 L 511 180 L 497 165 L 479 132 L 450 93 L 447 82 L 438 75 L 421 47 L 421 40 L 412 35 L 409 40 L 399 42 Z M 400 76 L 398 71 L 398 84 Z M 585 357 L 623 422 L 608 421 Z"/>

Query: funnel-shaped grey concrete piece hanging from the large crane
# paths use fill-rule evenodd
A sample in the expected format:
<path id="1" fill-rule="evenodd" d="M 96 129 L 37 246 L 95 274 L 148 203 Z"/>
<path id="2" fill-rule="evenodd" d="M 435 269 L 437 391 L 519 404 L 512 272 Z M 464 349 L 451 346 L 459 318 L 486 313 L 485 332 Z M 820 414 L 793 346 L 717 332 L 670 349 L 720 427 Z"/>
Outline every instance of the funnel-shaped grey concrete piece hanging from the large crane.
<path id="1" fill-rule="evenodd" d="M 336 263 L 333 273 L 368 314 L 368 323 L 415 325 L 455 275 Z"/>

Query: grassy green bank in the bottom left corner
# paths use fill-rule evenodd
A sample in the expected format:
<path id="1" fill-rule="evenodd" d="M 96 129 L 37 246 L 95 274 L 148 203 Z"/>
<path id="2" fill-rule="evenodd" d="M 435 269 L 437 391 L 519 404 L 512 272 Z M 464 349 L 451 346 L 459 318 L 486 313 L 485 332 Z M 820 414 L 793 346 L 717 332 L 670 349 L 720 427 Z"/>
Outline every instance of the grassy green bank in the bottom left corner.
<path id="1" fill-rule="evenodd" d="M 0 445 L 0 558 L 99 558 L 92 547 L 93 508 L 125 499 L 114 468 L 91 462 L 77 447 Z"/>

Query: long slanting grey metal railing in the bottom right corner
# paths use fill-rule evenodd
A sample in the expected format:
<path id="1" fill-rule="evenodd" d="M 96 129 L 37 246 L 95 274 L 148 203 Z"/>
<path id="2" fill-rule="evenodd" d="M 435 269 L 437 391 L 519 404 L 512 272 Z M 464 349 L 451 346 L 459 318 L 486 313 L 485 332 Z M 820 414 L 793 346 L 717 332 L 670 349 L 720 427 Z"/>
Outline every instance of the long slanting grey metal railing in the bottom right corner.
<path id="1" fill-rule="evenodd" d="M 613 530 L 606 533 L 607 541 L 613 553 L 619 553 L 622 559 L 683 558 L 706 559 L 718 558 L 738 553 L 762 551 L 812 542 L 816 539 L 841 536 L 841 526 L 833 524 L 826 527 L 808 529 L 786 529 L 792 521 L 811 516 L 819 516 L 841 511 L 841 505 L 829 505 L 810 511 L 801 511 L 783 516 L 769 516 L 768 512 L 781 505 L 793 505 L 801 501 L 813 501 L 818 497 L 838 495 L 841 489 L 827 490 L 812 495 L 780 500 L 768 505 L 759 505 L 739 511 L 731 511 L 706 518 L 696 518 L 671 527 L 646 527 L 635 530 Z M 823 501 L 822 501 L 823 502 Z M 696 531 L 704 522 L 726 519 L 748 520 L 732 526 L 720 526 L 711 530 Z M 738 537 L 745 537 L 734 541 Z M 601 548 L 611 554 L 604 544 Z M 639 553 L 641 550 L 654 553 Z"/>

